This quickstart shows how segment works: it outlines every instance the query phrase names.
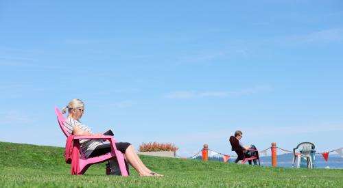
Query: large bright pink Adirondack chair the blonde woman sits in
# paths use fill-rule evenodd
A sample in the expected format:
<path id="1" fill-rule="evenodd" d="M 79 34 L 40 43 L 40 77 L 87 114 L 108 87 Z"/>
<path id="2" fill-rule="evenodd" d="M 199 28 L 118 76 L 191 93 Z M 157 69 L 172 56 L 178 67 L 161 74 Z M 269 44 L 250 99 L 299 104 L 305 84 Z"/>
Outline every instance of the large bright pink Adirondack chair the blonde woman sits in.
<path id="1" fill-rule="evenodd" d="M 58 120 L 58 124 L 60 124 L 60 129 L 62 129 L 62 132 L 64 133 L 64 135 L 66 135 L 66 137 L 69 137 L 70 134 L 66 131 L 66 129 L 64 128 L 64 122 L 65 122 L 65 118 L 62 115 L 62 113 L 60 113 L 60 110 L 55 107 L 55 112 L 57 115 L 57 120 Z M 110 144 L 112 145 L 112 151 L 108 152 L 105 155 L 101 155 L 99 157 L 90 157 L 90 158 L 86 158 L 84 157 L 84 153 L 82 152 L 82 150 L 80 149 L 80 159 L 79 159 L 79 174 L 78 175 L 82 175 L 84 174 L 84 172 L 86 172 L 86 170 L 88 169 L 88 167 L 90 167 L 91 165 L 95 164 L 95 163 L 102 163 L 104 161 L 108 161 L 111 158 L 115 158 L 118 161 L 119 164 L 119 168 L 120 168 L 120 172 L 121 172 L 121 176 L 128 176 L 128 169 L 126 167 L 126 163 L 123 157 L 123 154 L 117 150 L 116 146 L 115 146 L 115 138 L 113 136 L 75 136 L 74 139 L 107 139 Z"/>

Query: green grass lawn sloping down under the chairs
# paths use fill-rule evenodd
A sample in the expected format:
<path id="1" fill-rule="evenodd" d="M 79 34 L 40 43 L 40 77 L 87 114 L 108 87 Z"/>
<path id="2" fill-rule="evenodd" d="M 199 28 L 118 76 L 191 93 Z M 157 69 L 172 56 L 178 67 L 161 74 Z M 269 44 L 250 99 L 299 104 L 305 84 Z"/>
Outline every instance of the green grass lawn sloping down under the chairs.
<path id="1" fill-rule="evenodd" d="M 141 156 L 165 177 L 106 176 L 92 165 L 71 176 L 64 148 L 0 142 L 0 187 L 343 187 L 343 170 L 259 167 L 233 163 Z"/>

